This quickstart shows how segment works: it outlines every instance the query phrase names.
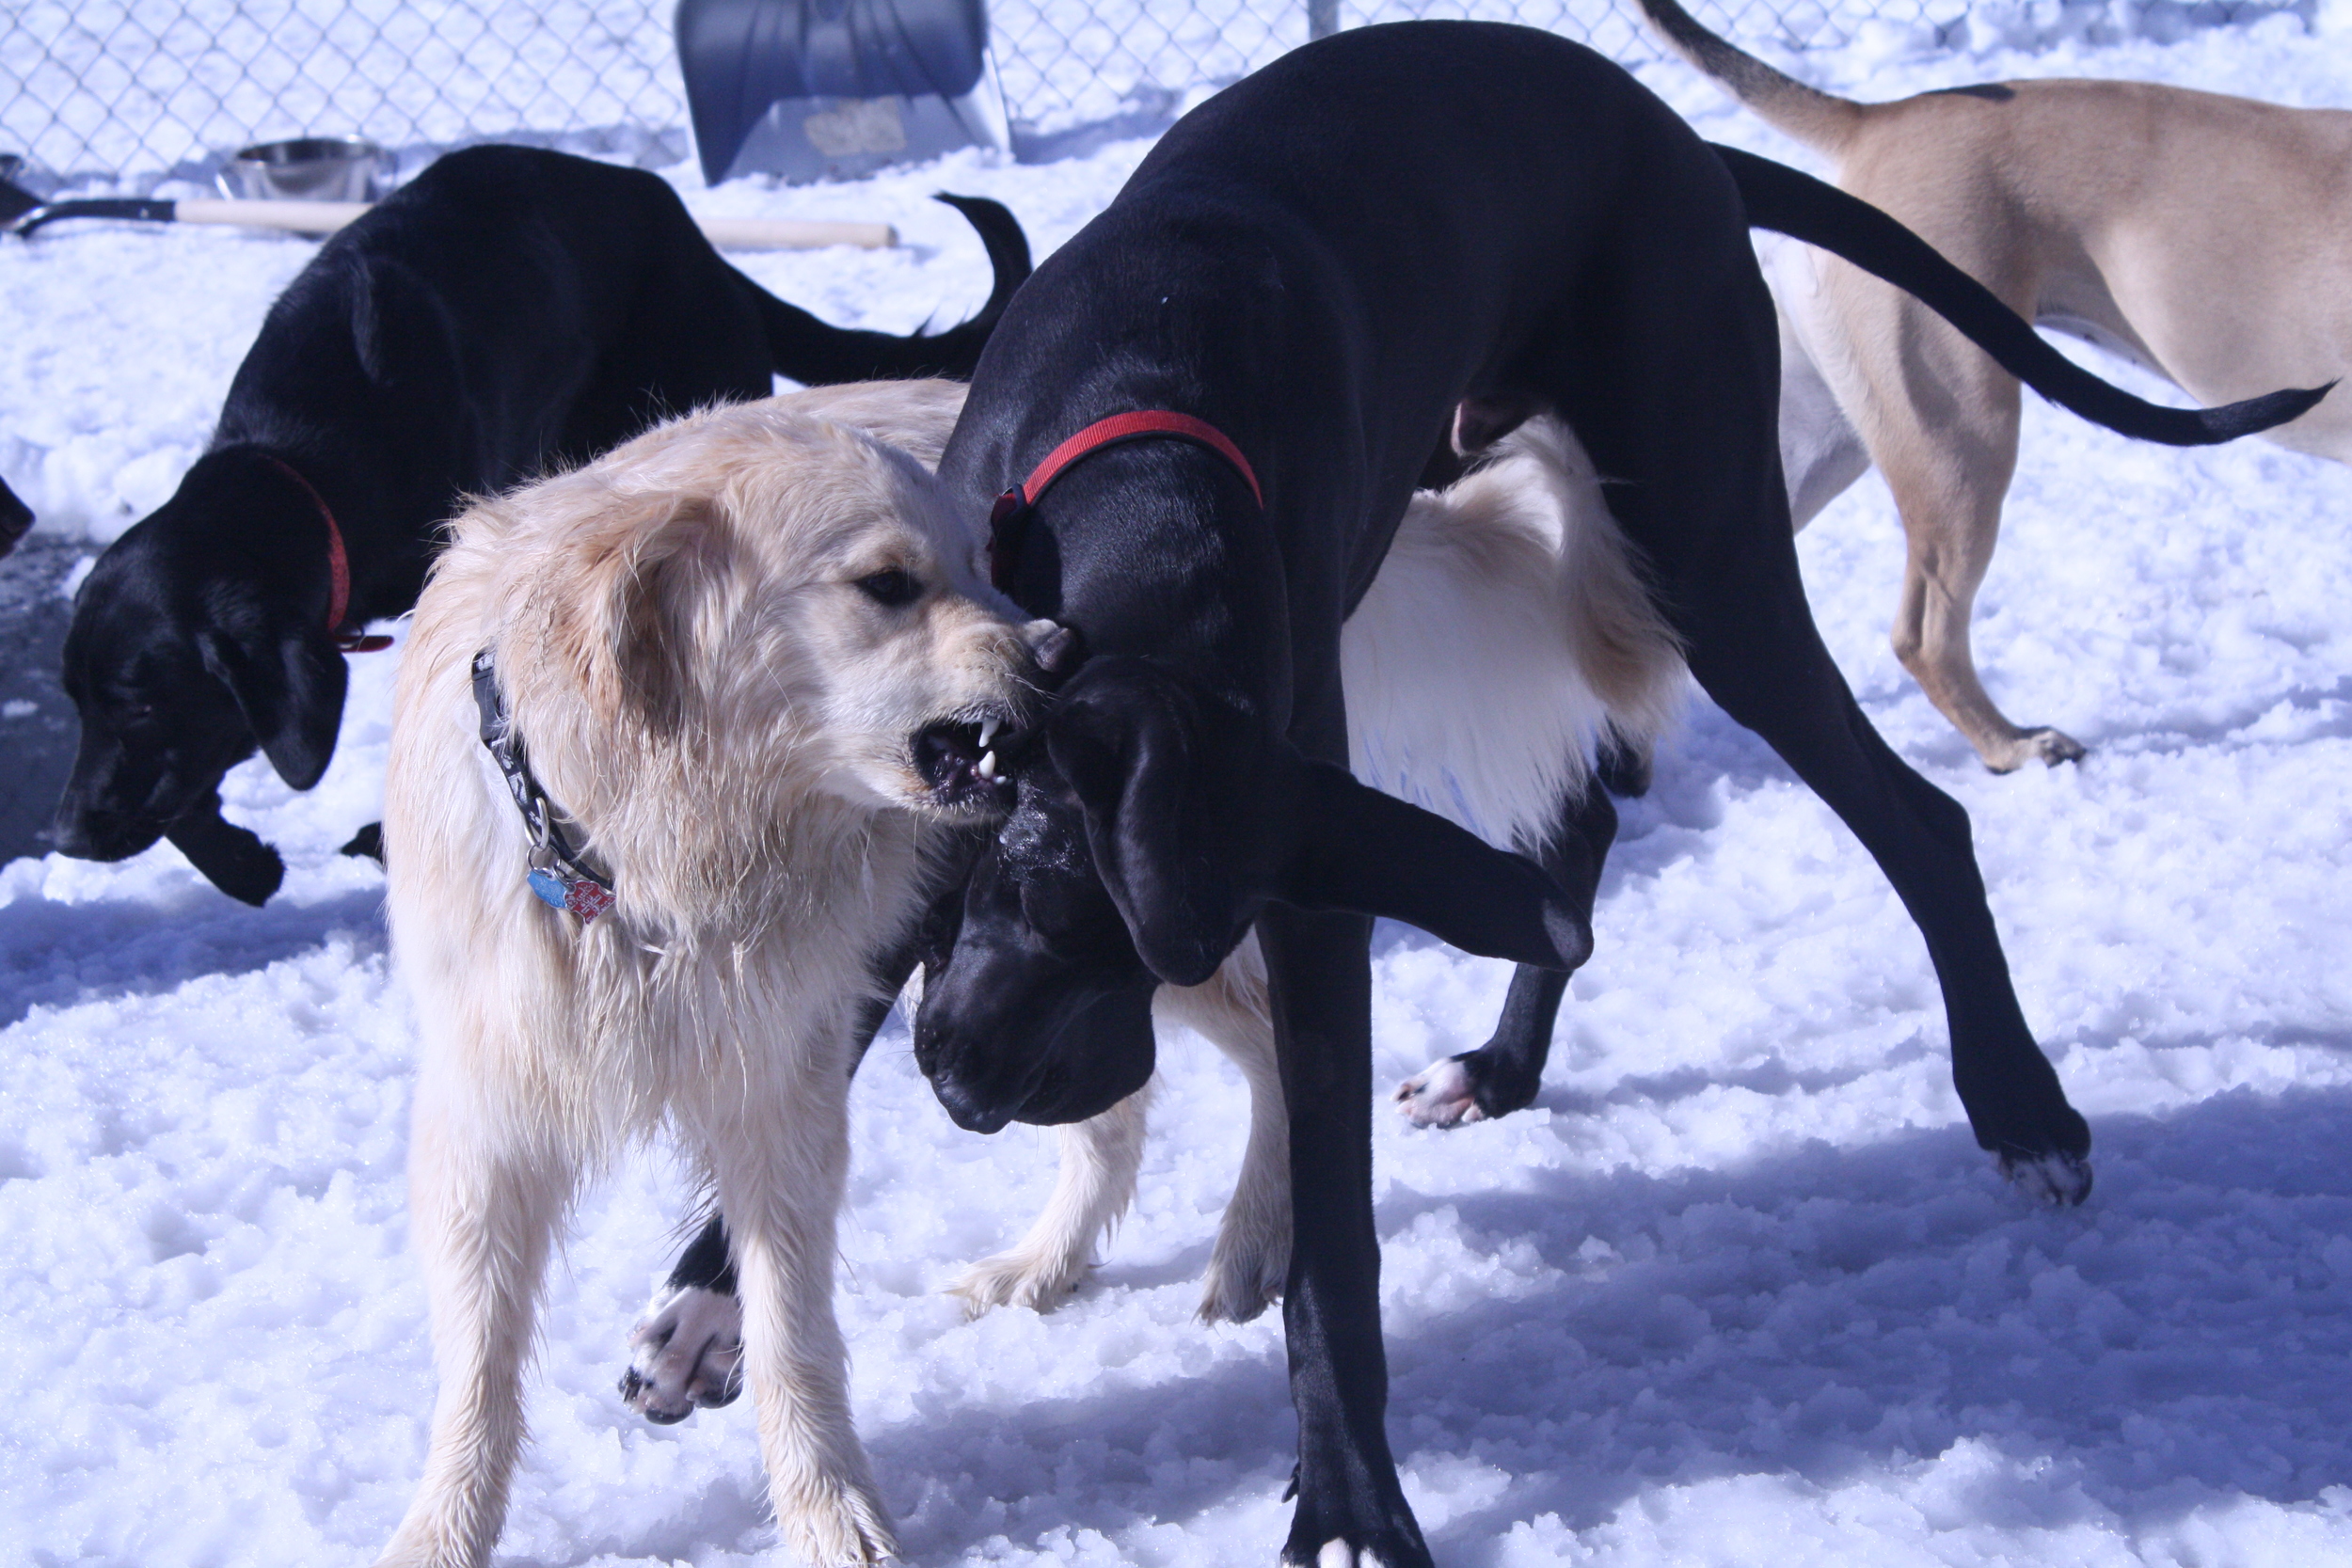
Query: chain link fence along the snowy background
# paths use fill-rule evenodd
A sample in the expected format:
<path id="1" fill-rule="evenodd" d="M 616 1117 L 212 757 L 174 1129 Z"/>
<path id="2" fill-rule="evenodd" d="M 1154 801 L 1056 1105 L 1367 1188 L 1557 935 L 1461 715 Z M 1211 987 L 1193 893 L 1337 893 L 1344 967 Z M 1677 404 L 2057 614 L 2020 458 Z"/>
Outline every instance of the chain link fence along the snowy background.
<path id="1" fill-rule="evenodd" d="M 2147 31 L 2314 0 L 1696 0 L 1743 42 L 1823 49 L 1865 28 L 1933 47 L 1987 26 Z M 64 181 L 202 179 L 280 136 L 423 153 L 529 139 L 644 165 L 687 155 L 670 0 L 0 0 L 0 153 Z M 1524 21 L 1656 59 L 1630 0 L 995 0 L 1016 134 L 1167 115 L 1308 40 L 1409 16 Z M 2114 21 L 2110 21 L 2114 16 Z M 2020 21 L 2023 19 L 2023 21 Z"/>

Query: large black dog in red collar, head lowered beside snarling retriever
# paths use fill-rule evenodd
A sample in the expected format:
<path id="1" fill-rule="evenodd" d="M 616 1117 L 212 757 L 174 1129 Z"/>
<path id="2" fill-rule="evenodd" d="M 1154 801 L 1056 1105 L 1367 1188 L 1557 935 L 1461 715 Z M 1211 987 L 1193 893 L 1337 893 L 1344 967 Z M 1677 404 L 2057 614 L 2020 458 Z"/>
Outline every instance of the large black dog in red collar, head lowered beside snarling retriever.
<path id="1" fill-rule="evenodd" d="M 2136 435 L 2223 440 L 2317 400 L 2140 404 L 1884 214 L 1710 148 L 1599 54 L 1395 24 L 1181 120 L 1007 310 L 941 463 L 993 505 L 1002 585 L 1087 658 L 1023 752 L 997 743 L 1011 811 L 924 959 L 915 1056 L 967 1128 L 1098 1114 L 1152 1072 L 1152 990 L 1209 978 L 1256 926 L 1291 1124 L 1289 1563 L 1430 1561 L 1383 1425 L 1371 917 L 1566 973 L 1606 849 L 1571 813 L 1576 886 L 1529 882 L 1338 766 L 1338 628 L 1449 430 L 1477 449 L 1536 409 L 1573 425 L 1693 675 L 1919 922 L 1978 1143 L 2058 1197 L 2089 1185 L 2089 1126 L 2018 1009 L 1966 813 L 1879 741 L 1813 630 L 1750 223 L 1922 294 Z M 1117 423 L 1138 411 L 1181 418 Z M 696 1265 L 727 1288 L 720 1220 Z"/>

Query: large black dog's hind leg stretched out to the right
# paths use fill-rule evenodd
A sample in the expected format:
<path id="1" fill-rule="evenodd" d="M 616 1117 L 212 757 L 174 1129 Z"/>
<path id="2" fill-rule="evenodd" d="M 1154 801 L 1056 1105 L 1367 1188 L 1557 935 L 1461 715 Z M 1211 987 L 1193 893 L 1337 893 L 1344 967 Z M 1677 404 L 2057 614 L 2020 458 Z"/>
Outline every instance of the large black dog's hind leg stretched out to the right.
<path id="1" fill-rule="evenodd" d="M 2091 1128 L 2025 1025 L 1969 816 L 1879 738 L 1813 628 L 1780 480 L 1771 301 L 1743 252 L 1684 237 L 1740 221 L 1729 193 L 1708 212 L 1710 183 L 1661 181 L 1689 200 L 1621 214 L 1693 266 L 1621 268 L 1623 299 L 1557 362 L 1555 402 L 1599 473 L 1623 480 L 1602 494 L 1644 552 L 1691 675 L 1837 811 L 1926 938 L 1976 1140 L 2023 1182 L 2079 1201 Z"/>

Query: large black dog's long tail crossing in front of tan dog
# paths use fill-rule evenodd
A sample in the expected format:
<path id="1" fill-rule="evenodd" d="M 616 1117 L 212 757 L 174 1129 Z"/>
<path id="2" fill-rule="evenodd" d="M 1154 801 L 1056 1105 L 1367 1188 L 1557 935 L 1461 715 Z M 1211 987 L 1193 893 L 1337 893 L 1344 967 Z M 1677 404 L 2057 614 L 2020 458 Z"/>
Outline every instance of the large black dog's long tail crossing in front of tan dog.
<path id="1" fill-rule="evenodd" d="M 1726 146 L 1717 146 L 1715 153 L 1731 169 L 1752 228 L 1818 244 L 1915 294 L 2011 376 L 2096 425 L 2166 447 L 2211 447 L 2284 425 L 2307 414 L 2336 386 L 2331 381 L 2319 388 L 2263 393 L 2218 409 L 2166 409 L 2133 397 L 2044 343 L 1992 289 L 1870 202 L 1755 153 Z"/>

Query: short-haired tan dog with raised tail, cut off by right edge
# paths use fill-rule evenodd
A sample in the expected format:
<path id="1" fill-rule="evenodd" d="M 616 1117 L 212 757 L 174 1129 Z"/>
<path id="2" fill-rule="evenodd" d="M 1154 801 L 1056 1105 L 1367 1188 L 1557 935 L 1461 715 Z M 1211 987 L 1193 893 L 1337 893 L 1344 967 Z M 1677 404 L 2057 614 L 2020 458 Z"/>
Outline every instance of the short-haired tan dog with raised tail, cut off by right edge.
<path id="1" fill-rule="evenodd" d="M 2199 402 L 2319 386 L 2352 367 L 2352 113 L 2147 82 L 2002 82 L 1853 103 L 1642 0 L 1693 66 L 1837 162 L 2030 322 L 2157 371 Z M 1877 463 L 1910 559 L 1893 646 L 1929 701 L 2006 773 L 2072 762 L 1985 696 L 1969 609 L 2018 454 L 2018 383 L 1907 294 L 1783 247 L 1780 444 L 1804 527 Z M 2265 433 L 2352 458 L 2352 402 Z"/>

